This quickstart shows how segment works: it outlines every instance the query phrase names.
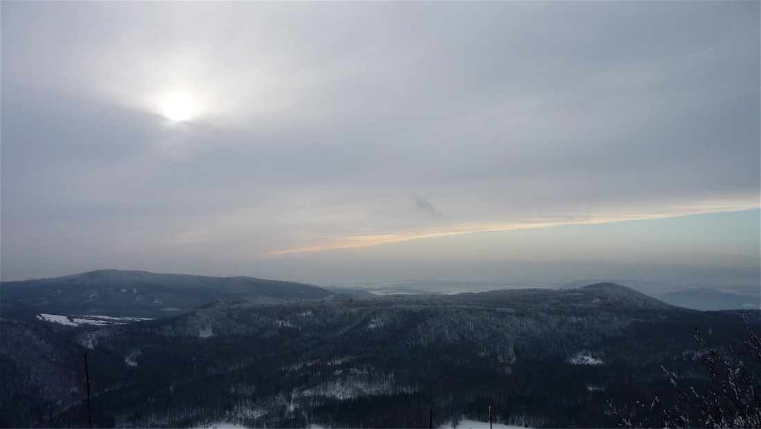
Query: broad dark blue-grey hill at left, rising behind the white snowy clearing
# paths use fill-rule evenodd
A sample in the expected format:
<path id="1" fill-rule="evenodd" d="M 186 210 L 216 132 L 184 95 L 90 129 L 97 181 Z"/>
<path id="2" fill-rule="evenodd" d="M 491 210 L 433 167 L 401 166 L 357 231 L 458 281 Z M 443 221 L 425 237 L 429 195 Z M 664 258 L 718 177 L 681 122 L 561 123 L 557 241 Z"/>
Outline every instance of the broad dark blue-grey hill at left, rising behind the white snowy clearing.
<path id="1" fill-rule="evenodd" d="M 195 310 L 215 300 L 321 300 L 336 294 L 292 281 L 103 269 L 56 278 L 3 281 L 0 296 L 43 313 L 156 318 Z M 11 308 L 10 304 L 5 307 Z"/>

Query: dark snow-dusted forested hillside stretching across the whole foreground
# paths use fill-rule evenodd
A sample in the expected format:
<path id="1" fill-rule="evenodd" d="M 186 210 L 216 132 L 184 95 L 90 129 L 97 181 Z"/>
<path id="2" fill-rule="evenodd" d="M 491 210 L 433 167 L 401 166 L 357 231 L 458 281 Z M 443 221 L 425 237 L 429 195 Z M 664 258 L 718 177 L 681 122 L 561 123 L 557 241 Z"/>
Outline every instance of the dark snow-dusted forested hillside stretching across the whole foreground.
<path id="1" fill-rule="evenodd" d="M 611 404 L 636 412 L 654 392 L 676 401 L 661 365 L 708 386 L 695 328 L 716 347 L 744 333 L 737 312 L 671 307 L 616 284 L 218 301 L 57 333 L 39 323 L 2 323 L 3 338 L 27 344 L 3 344 L 4 427 L 86 425 L 84 353 L 97 426 L 428 427 L 431 410 L 438 426 L 483 420 L 492 406 L 506 424 L 611 427 Z M 42 385 L 49 394 L 30 390 Z"/>

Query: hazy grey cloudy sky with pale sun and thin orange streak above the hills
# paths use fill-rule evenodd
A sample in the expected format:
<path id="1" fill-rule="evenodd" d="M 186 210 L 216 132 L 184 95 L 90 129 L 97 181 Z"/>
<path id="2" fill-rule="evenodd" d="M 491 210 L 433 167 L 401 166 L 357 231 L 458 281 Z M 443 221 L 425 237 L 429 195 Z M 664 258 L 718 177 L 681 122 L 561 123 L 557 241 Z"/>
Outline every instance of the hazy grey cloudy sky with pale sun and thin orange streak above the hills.
<path id="1" fill-rule="evenodd" d="M 0 278 L 758 268 L 759 5 L 4 1 Z"/>

